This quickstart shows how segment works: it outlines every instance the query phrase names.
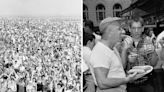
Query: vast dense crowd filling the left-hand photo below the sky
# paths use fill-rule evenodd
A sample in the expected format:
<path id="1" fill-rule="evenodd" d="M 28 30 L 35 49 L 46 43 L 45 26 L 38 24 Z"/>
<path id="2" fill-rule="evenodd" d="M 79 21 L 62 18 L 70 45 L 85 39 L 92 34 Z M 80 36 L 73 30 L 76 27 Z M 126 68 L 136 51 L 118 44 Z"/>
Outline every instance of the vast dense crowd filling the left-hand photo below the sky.
<path id="1" fill-rule="evenodd" d="M 80 92 L 80 21 L 0 21 L 0 92 Z"/>

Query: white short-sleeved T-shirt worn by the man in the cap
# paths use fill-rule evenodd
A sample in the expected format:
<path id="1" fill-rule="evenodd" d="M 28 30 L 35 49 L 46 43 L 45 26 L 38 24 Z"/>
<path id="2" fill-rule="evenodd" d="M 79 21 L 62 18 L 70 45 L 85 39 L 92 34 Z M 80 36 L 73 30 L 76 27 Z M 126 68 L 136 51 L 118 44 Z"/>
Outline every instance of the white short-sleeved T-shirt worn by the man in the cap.
<path id="1" fill-rule="evenodd" d="M 103 43 L 98 42 L 92 50 L 90 57 L 94 68 L 104 67 L 109 69 L 108 78 L 125 78 L 126 74 L 120 57 Z M 120 85 L 126 89 L 126 86 Z"/>

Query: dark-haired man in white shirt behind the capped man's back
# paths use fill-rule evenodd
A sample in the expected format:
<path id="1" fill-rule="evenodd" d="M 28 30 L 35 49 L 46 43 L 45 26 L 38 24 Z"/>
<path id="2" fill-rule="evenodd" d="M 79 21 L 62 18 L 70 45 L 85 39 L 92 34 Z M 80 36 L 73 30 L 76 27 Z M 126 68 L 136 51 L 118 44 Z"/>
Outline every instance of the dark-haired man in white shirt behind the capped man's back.
<path id="1" fill-rule="evenodd" d="M 90 65 L 91 50 L 95 45 L 95 36 L 90 33 L 83 33 L 83 80 L 84 80 L 84 92 L 96 92 L 96 85 L 93 79 L 93 70 Z"/>

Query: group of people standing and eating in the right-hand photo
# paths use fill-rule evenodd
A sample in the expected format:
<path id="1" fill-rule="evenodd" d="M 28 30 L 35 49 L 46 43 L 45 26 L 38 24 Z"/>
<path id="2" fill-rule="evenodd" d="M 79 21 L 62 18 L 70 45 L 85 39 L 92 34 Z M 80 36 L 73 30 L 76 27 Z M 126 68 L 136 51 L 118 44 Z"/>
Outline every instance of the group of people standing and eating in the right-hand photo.
<path id="1" fill-rule="evenodd" d="M 144 24 L 139 16 L 107 17 L 95 32 L 84 21 L 84 92 L 163 92 L 164 31 L 155 36 Z"/>

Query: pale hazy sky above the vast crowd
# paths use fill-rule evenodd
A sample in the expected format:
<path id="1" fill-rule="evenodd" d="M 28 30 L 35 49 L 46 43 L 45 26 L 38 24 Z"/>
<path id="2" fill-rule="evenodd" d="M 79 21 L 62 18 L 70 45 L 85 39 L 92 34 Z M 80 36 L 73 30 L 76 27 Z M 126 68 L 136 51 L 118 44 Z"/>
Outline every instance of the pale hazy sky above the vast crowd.
<path id="1" fill-rule="evenodd" d="M 0 16 L 81 16 L 82 0 L 0 0 Z"/>

